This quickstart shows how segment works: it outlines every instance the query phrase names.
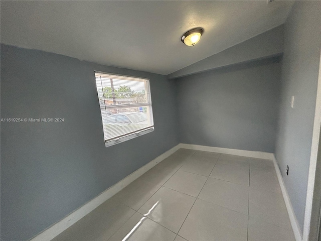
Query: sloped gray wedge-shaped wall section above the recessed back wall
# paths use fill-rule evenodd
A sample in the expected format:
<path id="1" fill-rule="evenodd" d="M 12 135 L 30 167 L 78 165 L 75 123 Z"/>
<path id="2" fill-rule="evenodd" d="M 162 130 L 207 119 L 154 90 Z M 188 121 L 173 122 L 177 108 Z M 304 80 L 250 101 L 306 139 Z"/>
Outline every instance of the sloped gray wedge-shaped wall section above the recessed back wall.
<path id="1" fill-rule="evenodd" d="M 259 34 L 222 52 L 214 54 L 197 63 L 191 64 L 172 74 L 169 78 L 178 78 L 196 74 L 218 67 L 228 66 L 268 56 L 281 55 L 283 52 L 283 25 Z"/>

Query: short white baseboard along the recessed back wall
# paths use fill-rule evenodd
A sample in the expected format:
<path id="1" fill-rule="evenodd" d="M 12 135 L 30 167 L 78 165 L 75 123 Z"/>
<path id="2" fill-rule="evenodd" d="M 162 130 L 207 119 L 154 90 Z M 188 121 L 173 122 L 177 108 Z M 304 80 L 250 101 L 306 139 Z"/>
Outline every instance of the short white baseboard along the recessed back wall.
<path id="1" fill-rule="evenodd" d="M 268 152 L 257 152 L 257 151 L 246 151 L 246 150 L 238 150 L 238 149 L 229 149 L 222 147 L 207 147 L 200 145 L 192 145 L 192 144 L 180 144 L 180 148 L 192 149 L 197 151 L 205 151 L 205 152 L 218 152 L 222 154 L 230 154 L 236 156 L 244 156 L 244 157 L 252 157 L 252 158 L 261 158 L 261 159 L 273 159 L 273 153 Z"/>

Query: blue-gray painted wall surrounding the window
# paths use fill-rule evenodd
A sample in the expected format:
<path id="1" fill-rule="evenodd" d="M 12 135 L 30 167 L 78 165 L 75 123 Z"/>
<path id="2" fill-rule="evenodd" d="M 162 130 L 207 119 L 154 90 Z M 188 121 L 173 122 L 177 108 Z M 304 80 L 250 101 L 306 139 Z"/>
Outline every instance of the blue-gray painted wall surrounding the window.
<path id="1" fill-rule="evenodd" d="M 175 83 L 1 45 L 1 240 L 27 240 L 179 143 Z M 150 78 L 155 131 L 105 148 L 94 70 Z"/>

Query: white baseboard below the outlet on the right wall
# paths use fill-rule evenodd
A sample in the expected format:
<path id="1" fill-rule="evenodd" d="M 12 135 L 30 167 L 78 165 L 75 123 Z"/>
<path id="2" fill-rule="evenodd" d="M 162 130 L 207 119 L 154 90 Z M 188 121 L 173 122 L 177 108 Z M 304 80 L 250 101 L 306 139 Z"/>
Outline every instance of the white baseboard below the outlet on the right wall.
<path id="1" fill-rule="evenodd" d="M 273 155 L 273 163 L 274 163 L 274 168 L 275 168 L 275 171 L 276 171 L 277 179 L 279 180 L 279 184 L 280 184 L 280 187 L 281 187 L 281 191 L 282 191 L 283 199 L 284 199 L 284 202 L 285 202 L 285 206 L 286 206 L 287 212 L 289 214 L 289 218 L 290 218 L 290 222 L 291 222 L 291 226 L 292 226 L 292 229 L 293 229 L 295 240 L 296 241 L 301 241 L 302 240 L 301 229 L 300 229 L 300 226 L 299 226 L 299 224 L 297 222 L 296 216 L 294 214 L 294 210 L 293 210 L 289 195 L 288 195 L 288 193 L 286 191 L 286 188 L 285 188 L 285 185 L 284 185 L 284 181 L 283 181 L 279 166 L 277 165 L 276 158 L 275 158 L 274 155 Z"/>

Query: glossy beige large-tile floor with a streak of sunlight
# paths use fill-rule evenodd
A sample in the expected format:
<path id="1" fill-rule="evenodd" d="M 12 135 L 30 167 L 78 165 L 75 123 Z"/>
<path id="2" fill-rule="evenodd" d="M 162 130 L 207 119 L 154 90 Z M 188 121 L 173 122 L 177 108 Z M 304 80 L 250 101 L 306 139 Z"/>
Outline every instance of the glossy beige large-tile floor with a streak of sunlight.
<path id="1" fill-rule="evenodd" d="M 295 240 L 271 160 L 180 149 L 53 240 Z"/>

